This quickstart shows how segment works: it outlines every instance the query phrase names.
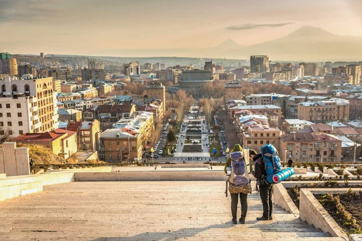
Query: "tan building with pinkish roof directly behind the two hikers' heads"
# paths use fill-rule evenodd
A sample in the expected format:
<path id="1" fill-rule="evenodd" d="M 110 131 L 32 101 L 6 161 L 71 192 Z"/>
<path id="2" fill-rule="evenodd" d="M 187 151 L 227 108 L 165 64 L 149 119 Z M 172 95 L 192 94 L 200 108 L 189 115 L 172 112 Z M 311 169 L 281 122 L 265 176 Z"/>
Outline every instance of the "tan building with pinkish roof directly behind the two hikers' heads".
<path id="1" fill-rule="evenodd" d="M 243 147 L 248 147 L 258 152 L 262 146 L 270 143 L 279 151 L 279 138 L 281 135 L 282 131 L 277 127 L 249 126 L 243 132 Z"/>

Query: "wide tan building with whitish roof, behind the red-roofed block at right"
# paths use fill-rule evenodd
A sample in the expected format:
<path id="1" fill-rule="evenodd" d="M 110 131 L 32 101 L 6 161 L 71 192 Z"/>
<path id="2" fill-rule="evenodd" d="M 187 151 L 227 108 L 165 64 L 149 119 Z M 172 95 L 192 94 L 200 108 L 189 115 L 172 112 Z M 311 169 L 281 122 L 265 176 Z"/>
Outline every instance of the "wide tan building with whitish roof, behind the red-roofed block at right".
<path id="1" fill-rule="evenodd" d="M 332 98 L 328 101 L 307 101 L 298 104 L 298 119 L 311 122 L 346 122 L 349 118 L 349 101 Z"/>

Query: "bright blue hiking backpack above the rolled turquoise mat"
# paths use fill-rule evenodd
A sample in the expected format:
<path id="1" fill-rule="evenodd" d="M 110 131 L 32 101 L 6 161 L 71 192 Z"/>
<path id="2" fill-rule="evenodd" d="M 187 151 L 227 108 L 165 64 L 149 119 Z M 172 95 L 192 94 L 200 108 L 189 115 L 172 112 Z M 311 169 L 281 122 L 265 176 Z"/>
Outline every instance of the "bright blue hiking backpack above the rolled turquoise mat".
<path id="1" fill-rule="evenodd" d="M 261 153 L 266 171 L 266 181 L 268 183 L 274 183 L 273 175 L 282 171 L 278 151 L 274 145 L 266 144 L 261 148 Z"/>

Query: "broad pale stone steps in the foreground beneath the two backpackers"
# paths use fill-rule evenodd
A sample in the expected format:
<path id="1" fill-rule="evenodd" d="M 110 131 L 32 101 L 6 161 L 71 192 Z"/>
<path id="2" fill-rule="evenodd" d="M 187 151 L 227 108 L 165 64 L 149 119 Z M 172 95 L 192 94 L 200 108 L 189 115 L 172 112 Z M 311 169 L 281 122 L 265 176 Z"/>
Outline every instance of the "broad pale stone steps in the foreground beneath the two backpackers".
<path id="1" fill-rule="evenodd" d="M 257 193 L 248 196 L 246 224 L 233 225 L 224 189 L 223 181 L 47 185 L 0 202 L 0 240 L 343 240 L 277 206 L 273 220 L 256 221 Z"/>

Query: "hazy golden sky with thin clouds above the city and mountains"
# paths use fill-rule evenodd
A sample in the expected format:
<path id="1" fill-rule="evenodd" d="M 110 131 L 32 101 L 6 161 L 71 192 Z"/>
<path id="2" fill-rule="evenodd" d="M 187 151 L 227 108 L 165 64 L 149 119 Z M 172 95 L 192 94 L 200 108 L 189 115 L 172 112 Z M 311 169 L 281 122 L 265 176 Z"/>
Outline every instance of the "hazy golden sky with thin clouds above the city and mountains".
<path id="1" fill-rule="evenodd" d="M 362 36 L 362 0 L 0 0 L 0 51 L 112 54 L 121 49 L 253 45 L 304 25 Z"/>

